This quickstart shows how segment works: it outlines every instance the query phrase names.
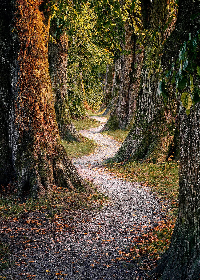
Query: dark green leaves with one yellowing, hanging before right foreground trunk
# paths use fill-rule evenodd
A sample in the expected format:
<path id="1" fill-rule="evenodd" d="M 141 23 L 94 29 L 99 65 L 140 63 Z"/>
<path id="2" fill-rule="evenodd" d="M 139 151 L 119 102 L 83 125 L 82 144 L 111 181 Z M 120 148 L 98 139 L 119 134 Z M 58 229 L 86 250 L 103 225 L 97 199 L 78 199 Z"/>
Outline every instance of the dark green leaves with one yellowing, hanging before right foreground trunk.
<path id="1" fill-rule="evenodd" d="M 189 40 L 180 46 L 178 60 L 172 64 L 169 71 L 166 70 L 158 90 L 159 94 L 166 96 L 166 90 L 163 90 L 162 84 L 165 82 L 176 83 L 176 93 L 180 92 L 181 102 L 187 115 L 190 113 L 191 106 L 200 101 L 200 90 L 197 87 L 200 77 L 199 43 L 200 30 L 192 38 L 189 34 Z"/>

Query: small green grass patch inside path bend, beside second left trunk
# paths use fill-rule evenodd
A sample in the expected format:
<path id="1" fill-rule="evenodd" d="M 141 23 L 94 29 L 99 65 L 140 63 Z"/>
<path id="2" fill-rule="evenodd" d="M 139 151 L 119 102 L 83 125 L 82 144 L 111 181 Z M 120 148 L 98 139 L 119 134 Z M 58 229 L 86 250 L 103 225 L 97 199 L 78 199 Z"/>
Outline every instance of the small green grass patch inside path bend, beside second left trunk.
<path id="1" fill-rule="evenodd" d="M 76 141 L 63 141 L 63 147 L 65 148 L 69 158 L 82 157 L 92 153 L 94 148 L 97 147 L 97 143 L 86 137 L 82 137 L 82 142 Z"/>

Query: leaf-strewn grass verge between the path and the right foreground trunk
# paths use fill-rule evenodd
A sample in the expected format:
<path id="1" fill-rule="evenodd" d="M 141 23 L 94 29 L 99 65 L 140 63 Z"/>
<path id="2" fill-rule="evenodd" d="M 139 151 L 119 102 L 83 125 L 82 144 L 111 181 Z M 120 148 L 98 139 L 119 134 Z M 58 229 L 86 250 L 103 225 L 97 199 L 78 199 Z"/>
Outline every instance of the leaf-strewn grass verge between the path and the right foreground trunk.
<path id="1" fill-rule="evenodd" d="M 138 261 L 143 259 L 143 262 L 145 258 L 146 261 L 161 258 L 169 247 L 177 214 L 178 162 L 172 160 L 162 164 L 121 162 L 108 166 L 108 169 L 127 181 L 140 182 L 146 186 L 147 191 L 155 192 L 160 199 L 164 220 L 159 221 L 150 230 L 145 230 L 146 226 L 133 228 L 133 232 L 138 236 L 133 239 L 134 246 L 130 248 L 128 255 Z M 166 203 L 166 200 L 169 203 Z M 146 269 L 145 266 L 143 268 Z M 141 267 L 141 270 L 143 268 Z"/>

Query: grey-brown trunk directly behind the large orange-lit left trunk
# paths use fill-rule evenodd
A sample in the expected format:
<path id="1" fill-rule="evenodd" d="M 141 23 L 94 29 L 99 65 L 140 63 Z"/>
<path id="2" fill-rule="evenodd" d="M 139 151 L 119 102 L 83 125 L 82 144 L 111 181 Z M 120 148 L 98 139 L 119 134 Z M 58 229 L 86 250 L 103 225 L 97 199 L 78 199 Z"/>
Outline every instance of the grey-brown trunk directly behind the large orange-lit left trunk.
<path id="1" fill-rule="evenodd" d="M 50 35 L 55 33 L 55 23 L 52 22 Z M 81 141 L 72 122 L 68 106 L 67 93 L 67 66 L 68 66 L 68 36 L 62 34 L 57 43 L 49 41 L 48 60 L 49 72 L 52 81 L 54 108 L 59 133 L 62 139 Z"/>

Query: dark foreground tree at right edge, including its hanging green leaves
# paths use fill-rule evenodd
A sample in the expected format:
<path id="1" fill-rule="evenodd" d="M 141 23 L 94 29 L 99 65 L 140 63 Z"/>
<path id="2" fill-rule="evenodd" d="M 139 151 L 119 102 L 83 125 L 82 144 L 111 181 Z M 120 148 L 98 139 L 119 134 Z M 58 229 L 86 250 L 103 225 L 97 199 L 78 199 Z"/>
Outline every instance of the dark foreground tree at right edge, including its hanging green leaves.
<path id="1" fill-rule="evenodd" d="M 181 81 L 183 86 L 181 88 L 182 96 L 180 105 L 181 152 L 179 163 L 180 189 L 178 214 L 169 249 L 161 258 L 158 267 L 154 270 L 154 272 L 160 272 L 162 274 L 161 279 L 163 280 L 199 279 L 199 15 L 199 1 L 194 1 L 192 5 L 189 0 L 183 0 L 179 3 L 175 30 L 166 42 L 162 57 L 162 65 L 167 67 L 169 71 L 170 68 L 175 71 L 175 61 L 178 58 L 179 62 L 176 67 L 178 68 L 179 66 L 179 68 L 175 71 L 176 88 L 180 89 Z M 182 43 L 181 50 L 180 43 Z M 170 65 L 171 63 L 173 63 L 172 66 Z"/>

